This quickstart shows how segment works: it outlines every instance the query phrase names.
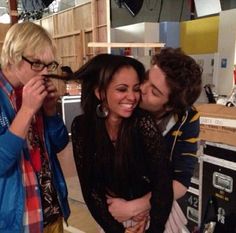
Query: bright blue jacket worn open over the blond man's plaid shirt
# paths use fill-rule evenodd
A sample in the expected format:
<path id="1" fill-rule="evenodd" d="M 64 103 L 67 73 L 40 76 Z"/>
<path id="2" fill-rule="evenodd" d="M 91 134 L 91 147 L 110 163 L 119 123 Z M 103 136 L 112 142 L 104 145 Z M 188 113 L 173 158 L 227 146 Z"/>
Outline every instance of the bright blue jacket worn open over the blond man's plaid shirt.
<path id="1" fill-rule="evenodd" d="M 10 85 L 7 85 L 7 88 L 11 91 Z M 28 149 L 25 140 L 9 131 L 9 125 L 14 117 L 15 111 L 8 96 L 0 88 L 0 233 L 23 233 L 25 193 L 20 163 L 22 151 L 27 153 Z M 63 217 L 67 221 L 70 215 L 68 192 L 57 153 L 67 145 L 68 132 L 59 116 L 45 117 L 44 125 L 53 184 Z"/>

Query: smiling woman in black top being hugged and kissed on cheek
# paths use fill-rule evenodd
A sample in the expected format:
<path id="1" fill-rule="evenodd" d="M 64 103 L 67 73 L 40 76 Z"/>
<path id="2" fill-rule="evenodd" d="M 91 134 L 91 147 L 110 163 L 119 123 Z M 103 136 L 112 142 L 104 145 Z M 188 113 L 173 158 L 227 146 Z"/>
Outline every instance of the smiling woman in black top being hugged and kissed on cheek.
<path id="1" fill-rule="evenodd" d="M 72 123 L 74 158 L 84 200 L 106 233 L 161 233 L 172 206 L 163 138 L 151 115 L 136 109 L 144 73 L 139 61 L 111 54 L 97 55 L 75 73 L 84 114 Z M 128 225 L 109 213 L 107 196 L 132 200 L 149 192 L 147 226 L 148 216 Z"/>

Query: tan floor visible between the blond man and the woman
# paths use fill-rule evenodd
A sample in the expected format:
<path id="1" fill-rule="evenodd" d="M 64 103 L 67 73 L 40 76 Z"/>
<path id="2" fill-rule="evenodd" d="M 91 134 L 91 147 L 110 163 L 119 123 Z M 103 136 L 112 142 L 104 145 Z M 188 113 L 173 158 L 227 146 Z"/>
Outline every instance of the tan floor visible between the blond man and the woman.
<path id="1" fill-rule="evenodd" d="M 79 179 L 74 164 L 71 142 L 60 152 L 59 160 L 66 179 L 71 216 L 65 233 L 99 233 L 99 227 L 90 215 L 81 194 Z"/>

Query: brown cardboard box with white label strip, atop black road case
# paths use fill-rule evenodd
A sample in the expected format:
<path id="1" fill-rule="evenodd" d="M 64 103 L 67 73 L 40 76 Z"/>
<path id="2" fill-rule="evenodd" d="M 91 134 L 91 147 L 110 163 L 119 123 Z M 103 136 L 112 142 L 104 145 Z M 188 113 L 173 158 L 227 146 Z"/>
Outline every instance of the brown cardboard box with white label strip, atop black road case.
<path id="1" fill-rule="evenodd" d="M 200 113 L 200 139 L 236 146 L 236 107 L 220 104 L 196 106 Z"/>

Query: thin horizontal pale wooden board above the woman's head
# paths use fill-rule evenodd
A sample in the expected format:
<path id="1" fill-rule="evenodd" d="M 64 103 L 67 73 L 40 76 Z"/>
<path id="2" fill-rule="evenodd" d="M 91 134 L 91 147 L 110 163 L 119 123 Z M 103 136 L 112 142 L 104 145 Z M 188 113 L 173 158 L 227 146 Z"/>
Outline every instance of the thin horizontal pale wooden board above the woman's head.
<path id="1" fill-rule="evenodd" d="M 107 43 L 107 42 L 89 42 L 88 47 L 112 47 L 112 48 L 162 48 L 165 43 Z"/>

